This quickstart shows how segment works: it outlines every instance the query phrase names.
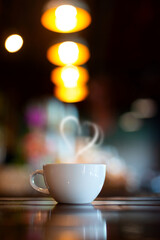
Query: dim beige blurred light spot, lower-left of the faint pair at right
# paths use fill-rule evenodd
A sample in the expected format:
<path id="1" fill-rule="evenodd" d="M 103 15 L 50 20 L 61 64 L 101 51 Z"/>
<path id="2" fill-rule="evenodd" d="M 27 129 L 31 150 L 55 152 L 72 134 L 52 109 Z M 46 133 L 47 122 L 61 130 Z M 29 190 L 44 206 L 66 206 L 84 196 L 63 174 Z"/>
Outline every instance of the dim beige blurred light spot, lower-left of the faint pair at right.
<path id="1" fill-rule="evenodd" d="M 120 117 L 119 124 L 126 132 L 135 132 L 142 127 L 142 120 L 136 118 L 134 113 L 127 112 Z"/>

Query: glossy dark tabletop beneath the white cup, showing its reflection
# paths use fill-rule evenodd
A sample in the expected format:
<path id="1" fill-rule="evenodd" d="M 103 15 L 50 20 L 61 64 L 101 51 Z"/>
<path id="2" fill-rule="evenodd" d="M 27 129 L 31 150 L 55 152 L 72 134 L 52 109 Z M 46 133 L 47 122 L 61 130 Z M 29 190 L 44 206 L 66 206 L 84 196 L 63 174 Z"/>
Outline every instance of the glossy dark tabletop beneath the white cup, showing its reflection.
<path id="1" fill-rule="evenodd" d="M 0 198 L 0 239 L 160 240 L 160 197 L 98 198 L 88 205 Z"/>

